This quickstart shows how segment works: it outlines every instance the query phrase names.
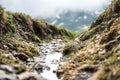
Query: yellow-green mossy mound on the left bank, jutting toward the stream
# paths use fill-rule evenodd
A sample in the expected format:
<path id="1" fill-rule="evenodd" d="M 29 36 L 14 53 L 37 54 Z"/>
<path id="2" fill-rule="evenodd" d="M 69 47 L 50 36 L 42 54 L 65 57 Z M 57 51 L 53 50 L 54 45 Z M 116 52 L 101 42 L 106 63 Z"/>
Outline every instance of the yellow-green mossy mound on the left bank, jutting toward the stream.
<path id="1" fill-rule="evenodd" d="M 38 48 L 34 47 L 33 44 L 27 43 L 25 41 L 18 41 L 16 39 L 8 40 L 8 47 L 18 53 L 24 53 L 28 57 L 38 56 L 40 51 Z"/>

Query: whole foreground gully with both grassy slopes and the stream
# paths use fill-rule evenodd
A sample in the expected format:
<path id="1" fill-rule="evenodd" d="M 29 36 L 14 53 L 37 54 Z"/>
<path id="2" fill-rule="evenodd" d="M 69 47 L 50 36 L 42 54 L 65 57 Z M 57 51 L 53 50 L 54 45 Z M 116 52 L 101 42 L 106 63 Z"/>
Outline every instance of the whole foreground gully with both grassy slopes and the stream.
<path id="1" fill-rule="evenodd" d="M 0 80 L 119 79 L 120 0 L 81 33 L 0 6 Z"/>

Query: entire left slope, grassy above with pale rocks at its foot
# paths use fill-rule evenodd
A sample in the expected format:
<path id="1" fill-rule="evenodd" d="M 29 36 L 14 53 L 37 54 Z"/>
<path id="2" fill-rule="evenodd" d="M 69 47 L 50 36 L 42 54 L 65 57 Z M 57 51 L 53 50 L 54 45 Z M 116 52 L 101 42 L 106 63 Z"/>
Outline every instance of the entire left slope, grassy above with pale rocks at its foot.
<path id="1" fill-rule="evenodd" d="M 0 80 L 16 80 L 15 74 L 27 71 L 24 62 L 41 53 L 36 44 L 58 38 L 73 39 L 74 36 L 73 32 L 64 28 L 26 14 L 5 11 L 0 6 Z"/>

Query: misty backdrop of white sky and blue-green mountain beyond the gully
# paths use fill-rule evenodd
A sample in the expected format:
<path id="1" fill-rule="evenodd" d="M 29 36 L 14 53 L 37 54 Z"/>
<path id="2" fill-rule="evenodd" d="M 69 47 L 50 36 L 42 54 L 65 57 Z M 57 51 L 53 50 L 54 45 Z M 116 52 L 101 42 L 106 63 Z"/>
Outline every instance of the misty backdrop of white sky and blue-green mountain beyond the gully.
<path id="1" fill-rule="evenodd" d="M 7 11 L 29 14 L 76 32 L 86 30 L 110 3 L 111 0 L 0 0 Z"/>

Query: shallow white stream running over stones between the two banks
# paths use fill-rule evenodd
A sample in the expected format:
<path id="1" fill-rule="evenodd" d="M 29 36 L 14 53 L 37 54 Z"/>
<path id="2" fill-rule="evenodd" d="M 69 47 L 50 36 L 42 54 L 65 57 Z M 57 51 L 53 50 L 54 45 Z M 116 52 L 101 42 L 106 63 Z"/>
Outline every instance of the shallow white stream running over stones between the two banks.
<path id="1" fill-rule="evenodd" d="M 40 72 L 42 77 L 47 80 L 58 80 L 56 74 L 53 71 L 55 71 L 59 65 L 65 63 L 62 58 L 62 49 L 64 45 L 65 42 L 61 39 L 38 45 L 41 53 L 40 56 L 34 57 L 34 61 L 32 62 L 32 68 L 34 68 L 36 64 L 39 63 L 44 67 L 42 72 Z"/>

